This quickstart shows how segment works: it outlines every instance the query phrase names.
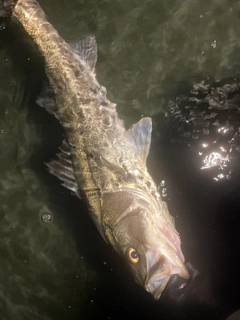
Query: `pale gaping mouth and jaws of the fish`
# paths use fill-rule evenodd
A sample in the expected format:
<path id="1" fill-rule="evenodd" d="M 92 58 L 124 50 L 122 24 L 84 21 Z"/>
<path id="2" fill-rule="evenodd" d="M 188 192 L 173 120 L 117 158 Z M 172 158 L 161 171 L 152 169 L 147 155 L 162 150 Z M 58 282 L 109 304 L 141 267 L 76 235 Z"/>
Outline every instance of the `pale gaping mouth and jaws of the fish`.
<path id="1" fill-rule="evenodd" d="M 151 249 L 147 254 L 147 277 L 145 279 L 145 290 L 148 291 L 155 300 L 158 300 L 165 289 L 172 275 L 178 274 L 182 278 L 189 277 L 185 265 L 176 258 L 175 263 L 167 259 L 164 255 Z"/>

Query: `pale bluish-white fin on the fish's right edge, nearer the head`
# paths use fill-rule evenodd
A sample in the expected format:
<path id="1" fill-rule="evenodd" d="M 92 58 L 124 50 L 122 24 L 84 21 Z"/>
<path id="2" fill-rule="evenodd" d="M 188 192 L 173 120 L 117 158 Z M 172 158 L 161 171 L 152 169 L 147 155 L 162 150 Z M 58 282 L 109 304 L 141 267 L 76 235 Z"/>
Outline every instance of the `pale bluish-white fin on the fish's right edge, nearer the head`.
<path id="1" fill-rule="evenodd" d="M 133 144 L 137 156 L 146 164 L 151 144 L 152 120 L 151 118 L 142 118 L 139 122 L 133 124 L 127 131 L 127 135 Z"/>

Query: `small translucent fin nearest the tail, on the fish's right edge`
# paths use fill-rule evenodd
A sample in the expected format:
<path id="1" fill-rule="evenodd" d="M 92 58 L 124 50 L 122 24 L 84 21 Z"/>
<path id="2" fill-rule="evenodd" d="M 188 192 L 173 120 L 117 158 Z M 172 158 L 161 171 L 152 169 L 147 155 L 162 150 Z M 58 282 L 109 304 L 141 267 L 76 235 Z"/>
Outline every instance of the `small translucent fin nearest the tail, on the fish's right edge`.
<path id="1" fill-rule="evenodd" d="M 95 65 L 97 62 L 97 42 L 93 35 L 87 36 L 83 40 L 70 44 L 73 50 L 84 60 L 95 73 Z"/>

